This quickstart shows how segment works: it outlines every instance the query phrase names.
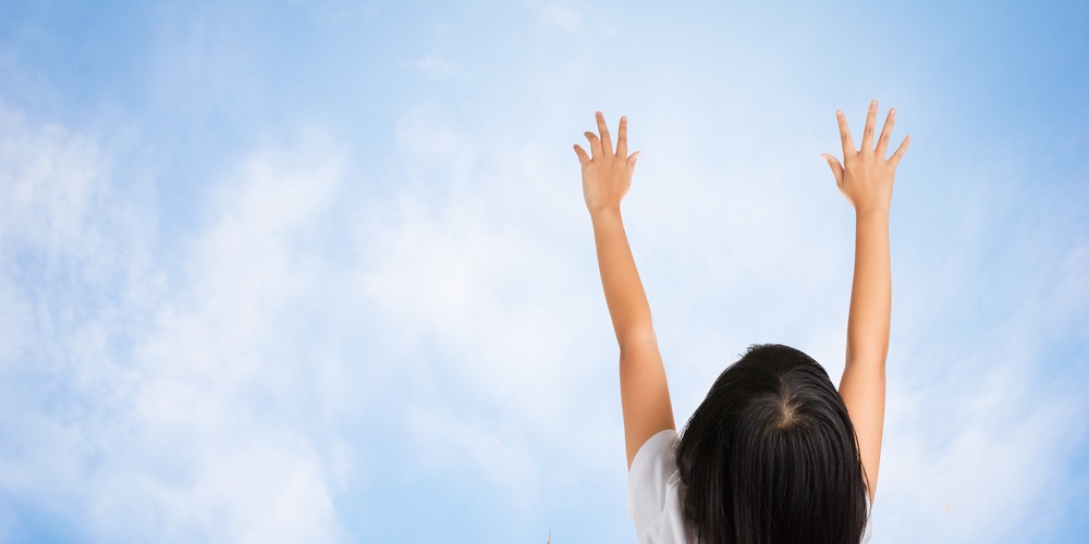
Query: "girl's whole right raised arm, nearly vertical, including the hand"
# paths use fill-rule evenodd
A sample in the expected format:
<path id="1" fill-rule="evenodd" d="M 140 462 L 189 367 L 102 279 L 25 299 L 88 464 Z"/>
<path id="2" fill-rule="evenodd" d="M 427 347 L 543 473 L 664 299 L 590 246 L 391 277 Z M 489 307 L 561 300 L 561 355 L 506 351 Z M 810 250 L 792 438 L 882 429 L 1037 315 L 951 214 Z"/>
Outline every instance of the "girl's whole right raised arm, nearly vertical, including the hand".
<path id="1" fill-rule="evenodd" d="M 873 148 L 878 101 L 870 102 L 862 132 L 862 147 L 855 151 L 843 112 L 836 112 L 843 141 L 843 164 L 824 154 L 835 184 L 855 209 L 855 277 L 847 317 L 847 362 L 840 381 L 840 396 L 858 435 L 858 449 L 868 479 L 870 502 L 877 493 L 884 429 L 885 357 L 892 313 L 892 273 L 889 258 L 889 208 L 896 165 L 907 151 L 907 136 L 888 160 L 896 110 L 889 110 L 881 137 Z"/>

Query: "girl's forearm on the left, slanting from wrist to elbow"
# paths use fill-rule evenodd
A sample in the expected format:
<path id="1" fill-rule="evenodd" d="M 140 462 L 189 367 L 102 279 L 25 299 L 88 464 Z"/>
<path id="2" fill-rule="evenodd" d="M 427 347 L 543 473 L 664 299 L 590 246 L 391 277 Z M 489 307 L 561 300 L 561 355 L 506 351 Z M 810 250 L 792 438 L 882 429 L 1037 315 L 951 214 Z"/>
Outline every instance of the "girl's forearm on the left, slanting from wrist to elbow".
<path id="1" fill-rule="evenodd" d="M 616 342 L 623 351 L 632 342 L 652 337 L 650 305 L 635 268 L 635 258 L 632 257 L 620 209 L 590 210 L 590 220 L 594 222 L 601 285 L 605 292 Z"/>

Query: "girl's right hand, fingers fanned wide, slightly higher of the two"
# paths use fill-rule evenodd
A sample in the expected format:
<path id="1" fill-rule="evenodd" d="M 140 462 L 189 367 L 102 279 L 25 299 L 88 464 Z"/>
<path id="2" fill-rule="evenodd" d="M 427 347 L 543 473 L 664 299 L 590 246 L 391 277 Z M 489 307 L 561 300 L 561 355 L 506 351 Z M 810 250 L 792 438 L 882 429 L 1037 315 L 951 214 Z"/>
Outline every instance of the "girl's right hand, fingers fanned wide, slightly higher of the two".
<path id="1" fill-rule="evenodd" d="M 892 203 L 892 181 L 896 175 L 896 165 L 907 151 L 911 137 L 905 137 L 896 152 L 885 160 L 892 125 L 896 120 L 895 109 L 889 110 L 889 118 L 885 119 L 884 128 L 881 129 L 881 138 L 878 139 L 877 149 L 873 149 L 873 123 L 878 115 L 878 101 L 870 102 L 870 109 L 866 113 L 866 129 L 862 132 L 862 148 L 858 151 L 855 151 L 855 143 L 851 139 L 851 129 L 847 128 L 847 120 L 843 112 L 837 111 L 835 115 L 840 123 L 840 138 L 843 140 L 843 165 L 840 165 L 840 161 L 831 154 L 821 156 L 832 168 L 835 185 L 855 208 L 856 214 L 873 211 L 888 213 Z"/>

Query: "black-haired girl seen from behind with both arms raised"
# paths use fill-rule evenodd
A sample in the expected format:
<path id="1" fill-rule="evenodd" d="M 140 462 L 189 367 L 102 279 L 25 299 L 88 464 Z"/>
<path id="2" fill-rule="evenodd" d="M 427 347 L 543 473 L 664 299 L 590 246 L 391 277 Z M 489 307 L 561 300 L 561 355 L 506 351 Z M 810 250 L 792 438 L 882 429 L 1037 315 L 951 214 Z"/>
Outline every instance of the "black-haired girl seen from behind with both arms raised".
<path id="1" fill-rule="evenodd" d="M 870 103 L 856 151 L 836 112 L 843 164 L 821 157 L 855 210 L 855 271 L 846 367 L 836 392 L 807 355 L 757 345 L 715 380 L 677 436 L 650 306 L 632 258 L 620 202 L 641 154 L 627 154 L 627 119 L 616 148 L 597 112 L 575 145 L 594 223 L 605 301 L 620 344 L 621 404 L 628 465 L 628 516 L 639 542 L 855 543 L 870 537 L 884 425 L 884 366 L 892 281 L 889 207 L 904 138 L 885 159 L 896 110 L 873 143 Z"/>

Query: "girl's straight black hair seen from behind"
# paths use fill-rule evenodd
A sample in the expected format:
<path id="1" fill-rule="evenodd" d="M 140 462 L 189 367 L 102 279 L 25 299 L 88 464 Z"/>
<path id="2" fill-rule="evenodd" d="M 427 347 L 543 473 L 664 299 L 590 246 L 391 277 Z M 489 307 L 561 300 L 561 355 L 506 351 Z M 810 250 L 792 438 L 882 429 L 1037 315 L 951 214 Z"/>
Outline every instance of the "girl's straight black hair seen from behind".
<path id="1" fill-rule="evenodd" d="M 719 375 L 676 446 L 683 517 L 701 544 L 858 544 L 866 480 L 855 428 L 828 373 L 779 344 Z"/>

